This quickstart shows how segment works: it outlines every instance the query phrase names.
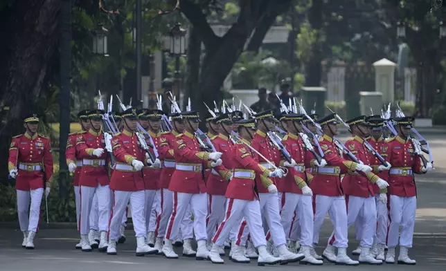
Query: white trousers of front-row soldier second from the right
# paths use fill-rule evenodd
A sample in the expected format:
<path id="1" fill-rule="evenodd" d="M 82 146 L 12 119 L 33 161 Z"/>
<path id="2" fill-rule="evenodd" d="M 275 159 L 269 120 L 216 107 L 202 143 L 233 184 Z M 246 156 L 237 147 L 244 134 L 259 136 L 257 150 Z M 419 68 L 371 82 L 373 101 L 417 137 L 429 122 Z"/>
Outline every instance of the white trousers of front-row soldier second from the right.
<path id="1" fill-rule="evenodd" d="M 362 229 L 360 235 L 359 245 L 361 247 L 372 247 L 373 236 L 376 232 L 376 203 L 375 197 L 362 198 L 359 196 L 348 196 L 348 212 L 347 212 L 347 227 L 350 227 L 357 221 L 357 217 L 361 216 Z M 332 245 L 334 233 L 328 239 L 328 243 Z"/>

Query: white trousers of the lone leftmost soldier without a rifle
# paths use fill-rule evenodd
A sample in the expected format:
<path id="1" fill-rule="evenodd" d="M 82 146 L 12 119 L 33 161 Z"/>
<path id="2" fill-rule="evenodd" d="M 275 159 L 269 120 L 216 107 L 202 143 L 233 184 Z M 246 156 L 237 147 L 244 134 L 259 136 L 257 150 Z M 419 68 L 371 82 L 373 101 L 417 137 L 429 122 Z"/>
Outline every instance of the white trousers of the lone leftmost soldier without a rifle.
<path id="1" fill-rule="evenodd" d="M 37 232 L 39 229 L 40 203 L 42 203 L 43 194 L 43 188 L 30 191 L 17 190 L 17 214 L 19 215 L 19 225 L 22 232 L 26 230 Z M 31 206 L 29 207 L 30 198 Z"/>

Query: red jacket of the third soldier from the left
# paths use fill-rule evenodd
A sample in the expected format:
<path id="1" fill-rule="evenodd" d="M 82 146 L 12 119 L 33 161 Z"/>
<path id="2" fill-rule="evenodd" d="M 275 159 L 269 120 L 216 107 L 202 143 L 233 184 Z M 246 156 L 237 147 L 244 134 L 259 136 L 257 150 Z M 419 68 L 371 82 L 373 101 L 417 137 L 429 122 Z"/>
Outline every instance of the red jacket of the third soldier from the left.
<path id="1" fill-rule="evenodd" d="M 93 151 L 98 148 L 104 149 L 104 153 L 100 157 L 93 156 Z M 87 133 L 79 134 L 76 138 L 76 149 L 79 151 L 79 158 L 82 158 L 79 185 L 87 187 L 108 185 L 108 153 L 102 129 L 98 133 L 90 129 Z"/>

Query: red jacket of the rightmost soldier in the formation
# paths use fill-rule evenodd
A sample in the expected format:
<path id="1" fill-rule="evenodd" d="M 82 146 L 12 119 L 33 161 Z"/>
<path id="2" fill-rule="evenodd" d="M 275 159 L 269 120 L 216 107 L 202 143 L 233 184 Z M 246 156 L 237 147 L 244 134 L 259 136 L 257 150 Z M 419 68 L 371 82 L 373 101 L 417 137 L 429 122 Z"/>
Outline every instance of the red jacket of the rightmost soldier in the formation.
<path id="1" fill-rule="evenodd" d="M 413 174 L 423 174 L 421 158 L 413 148 L 411 140 L 396 136 L 388 141 L 389 162 L 389 194 L 395 196 L 416 196 L 416 185 Z M 395 171 L 399 171 L 398 173 Z"/>

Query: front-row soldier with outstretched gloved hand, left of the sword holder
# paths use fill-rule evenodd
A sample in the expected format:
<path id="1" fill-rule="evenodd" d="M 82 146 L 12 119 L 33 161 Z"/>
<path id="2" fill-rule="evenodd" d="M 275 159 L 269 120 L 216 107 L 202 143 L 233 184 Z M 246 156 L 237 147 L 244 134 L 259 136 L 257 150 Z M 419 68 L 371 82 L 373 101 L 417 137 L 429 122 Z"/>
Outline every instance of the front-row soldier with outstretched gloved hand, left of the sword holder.
<path id="1" fill-rule="evenodd" d="M 186 111 L 184 118 L 184 133 L 175 138 L 174 156 L 175 171 L 170 180 L 169 190 L 173 191 L 173 210 L 169 218 L 166 238 L 162 252 L 168 259 L 178 258 L 172 248 L 172 240 L 179 233 L 179 225 L 183 221 L 188 208 L 193 209 L 194 232 L 197 240 L 196 259 L 207 259 L 206 248 L 206 214 L 207 194 L 204 184 L 203 167 L 217 167 L 222 164 L 222 153 L 200 151 L 201 139 L 195 136 L 198 129 L 199 115 L 197 111 Z M 190 207 L 189 207 L 190 204 Z"/>

